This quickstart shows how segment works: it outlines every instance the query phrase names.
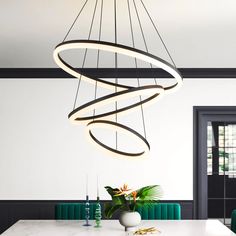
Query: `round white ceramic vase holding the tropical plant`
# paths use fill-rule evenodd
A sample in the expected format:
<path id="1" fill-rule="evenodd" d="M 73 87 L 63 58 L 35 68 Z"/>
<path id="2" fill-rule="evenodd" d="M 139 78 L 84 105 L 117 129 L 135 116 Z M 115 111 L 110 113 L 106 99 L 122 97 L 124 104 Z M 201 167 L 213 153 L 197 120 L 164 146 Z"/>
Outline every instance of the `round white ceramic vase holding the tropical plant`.
<path id="1" fill-rule="evenodd" d="M 125 227 L 125 231 L 133 231 L 141 222 L 141 216 L 137 211 L 123 211 L 119 222 Z"/>

